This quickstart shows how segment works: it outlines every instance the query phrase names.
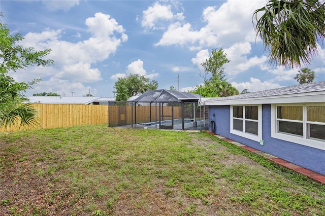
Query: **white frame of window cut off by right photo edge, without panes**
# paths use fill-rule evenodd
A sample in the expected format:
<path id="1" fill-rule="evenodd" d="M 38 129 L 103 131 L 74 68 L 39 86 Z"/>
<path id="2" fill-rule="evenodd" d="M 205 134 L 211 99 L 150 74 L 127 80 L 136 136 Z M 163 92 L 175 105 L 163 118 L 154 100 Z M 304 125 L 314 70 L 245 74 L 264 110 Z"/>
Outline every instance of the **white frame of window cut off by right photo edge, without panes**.
<path id="1" fill-rule="evenodd" d="M 271 137 L 282 139 L 289 142 L 294 142 L 300 145 L 325 150 L 325 142 L 323 140 L 309 138 L 309 124 L 319 124 L 325 125 L 323 122 L 310 122 L 307 121 L 307 106 L 325 106 L 324 103 L 294 103 L 294 104 L 271 104 Z M 290 122 L 302 122 L 303 123 L 303 137 L 289 134 L 289 133 L 282 133 L 278 132 L 278 119 L 277 119 L 277 106 L 302 106 L 303 107 L 303 120 L 302 121 L 295 121 L 295 120 L 284 120 L 281 121 L 290 121 Z"/>

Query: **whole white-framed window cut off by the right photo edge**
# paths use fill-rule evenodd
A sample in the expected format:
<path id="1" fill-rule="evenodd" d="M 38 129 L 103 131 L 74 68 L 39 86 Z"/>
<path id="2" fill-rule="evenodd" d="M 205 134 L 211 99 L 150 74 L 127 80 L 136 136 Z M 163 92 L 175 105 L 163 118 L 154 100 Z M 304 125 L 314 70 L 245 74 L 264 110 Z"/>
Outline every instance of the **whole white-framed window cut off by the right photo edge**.
<path id="1" fill-rule="evenodd" d="M 325 105 L 272 105 L 272 137 L 325 150 Z"/>

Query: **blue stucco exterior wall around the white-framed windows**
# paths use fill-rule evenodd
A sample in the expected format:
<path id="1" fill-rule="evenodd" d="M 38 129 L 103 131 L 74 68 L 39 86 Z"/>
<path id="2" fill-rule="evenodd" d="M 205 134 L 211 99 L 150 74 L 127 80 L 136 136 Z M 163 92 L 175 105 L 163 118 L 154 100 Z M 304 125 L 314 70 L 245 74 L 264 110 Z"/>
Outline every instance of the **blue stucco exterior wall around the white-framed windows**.
<path id="1" fill-rule="evenodd" d="M 215 117 L 212 115 L 215 114 Z M 262 137 L 259 142 L 230 133 L 230 106 L 209 106 L 209 122 L 215 120 L 215 133 L 246 146 L 269 153 L 290 163 L 325 175 L 325 151 L 271 137 L 271 104 L 262 105 Z"/>

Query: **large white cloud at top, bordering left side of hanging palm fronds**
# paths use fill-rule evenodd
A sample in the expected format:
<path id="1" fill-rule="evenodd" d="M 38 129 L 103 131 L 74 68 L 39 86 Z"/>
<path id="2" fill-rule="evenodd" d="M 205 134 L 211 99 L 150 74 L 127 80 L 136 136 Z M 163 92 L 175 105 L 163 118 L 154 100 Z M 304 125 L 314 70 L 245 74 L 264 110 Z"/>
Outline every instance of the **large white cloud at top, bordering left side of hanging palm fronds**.
<path id="1" fill-rule="evenodd" d="M 155 46 L 181 45 L 191 50 L 204 46 L 228 47 L 233 43 L 255 42 L 253 12 L 265 6 L 264 1 L 228 1 L 220 8 L 207 7 L 202 20 L 207 24 L 193 29 L 189 23 L 171 23 Z"/>

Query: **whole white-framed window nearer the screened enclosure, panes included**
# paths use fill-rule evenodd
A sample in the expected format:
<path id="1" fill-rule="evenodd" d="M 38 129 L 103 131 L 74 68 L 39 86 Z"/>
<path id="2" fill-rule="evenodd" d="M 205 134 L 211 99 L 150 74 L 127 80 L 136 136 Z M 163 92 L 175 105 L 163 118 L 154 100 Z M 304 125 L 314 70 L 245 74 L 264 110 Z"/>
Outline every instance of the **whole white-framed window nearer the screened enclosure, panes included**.
<path id="1" fill-rule="evenodd" d="M 262 139 L 262 106 L 231 106 L 231 133 L 255 141 Z"/>

